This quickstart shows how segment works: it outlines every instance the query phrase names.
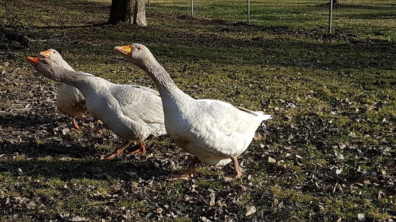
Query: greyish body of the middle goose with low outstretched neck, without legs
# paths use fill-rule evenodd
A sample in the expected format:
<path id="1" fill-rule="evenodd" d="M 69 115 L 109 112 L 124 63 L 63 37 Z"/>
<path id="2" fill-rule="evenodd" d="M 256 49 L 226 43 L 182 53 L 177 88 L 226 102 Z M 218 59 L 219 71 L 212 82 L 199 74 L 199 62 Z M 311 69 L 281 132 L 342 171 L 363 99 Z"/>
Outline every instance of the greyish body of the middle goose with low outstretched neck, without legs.
<path id="1" fill-rule="evenodd" d="M 89 113 L 118 136 L 137 143 L 166 134 L 157 91 L 138 85 L 117 85 L 95 76 L 85 76 L 75 84 L 86 98 Z"/>

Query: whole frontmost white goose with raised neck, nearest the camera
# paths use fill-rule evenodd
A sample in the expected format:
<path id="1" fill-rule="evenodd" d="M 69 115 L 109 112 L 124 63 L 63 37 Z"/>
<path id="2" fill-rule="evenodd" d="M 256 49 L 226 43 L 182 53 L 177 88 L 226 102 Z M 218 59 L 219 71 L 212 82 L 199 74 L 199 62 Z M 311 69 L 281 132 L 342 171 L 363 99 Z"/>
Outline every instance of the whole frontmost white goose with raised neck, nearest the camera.
<path id="1" fill-rule="evenodd" d="M 190 167 L 179 178 L 194 177 L 198 160 L 218 167 L 232 161 L 234 174 L 224 178 L 240 177 L 243 171 L 237 157 L 249 146 L 261 122 L 271 119 L 271 115 L 219 100 L 195 100 L 175 85 L 144 45 L 115 49 L 154 80 L 162 98 L 166 132 L 183 151 L 194 155 Z"/>

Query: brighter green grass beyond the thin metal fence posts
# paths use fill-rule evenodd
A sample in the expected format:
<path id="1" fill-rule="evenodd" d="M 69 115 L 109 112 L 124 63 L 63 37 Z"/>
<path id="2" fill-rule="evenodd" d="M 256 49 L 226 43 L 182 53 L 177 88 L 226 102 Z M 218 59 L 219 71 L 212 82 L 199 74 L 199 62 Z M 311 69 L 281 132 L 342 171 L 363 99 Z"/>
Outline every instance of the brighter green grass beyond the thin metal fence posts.
<path id="1" fill-rule="evenodd" d="M 326 32 L 329 1 L 322 0 L 251 0 L 251 23 L 262 26 Z M 341 0 L 333 9 L 333 32 L 354 33 L 362 36 L 395 38 L 395 5 L 392 0 Z M 189 15 L 190 2 L 183 0 L 156 0 L 152 11 Z M 233 22 L 247 21 L 247 2 L 243 0 L 195 0 L 194 15 Z"/>

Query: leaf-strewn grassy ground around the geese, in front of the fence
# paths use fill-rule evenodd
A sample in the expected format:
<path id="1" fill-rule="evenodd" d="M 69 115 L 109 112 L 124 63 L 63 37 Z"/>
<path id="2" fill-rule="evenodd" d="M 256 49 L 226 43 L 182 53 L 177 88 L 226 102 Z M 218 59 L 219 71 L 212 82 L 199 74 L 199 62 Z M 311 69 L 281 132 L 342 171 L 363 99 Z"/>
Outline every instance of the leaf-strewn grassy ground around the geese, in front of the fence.
<path id="1" fill-rule="evenodd" d="M 164 2 L 153 2 L 154 9 L 183 7 Z M 277 2 L 287 11 L 297 6 Z M 393 4 L 383 2 L 383 8 Z M 147 14 L 145 28 L 96 25 L 107 21 L 110 2 L 26 4 L 28 12 L 34 10 L 24 17 L 26 24 L 40 21 L 30 51 L 15 45 L 0 51 L 0 221 L 65 221 L 71 215 L 92 221 L 356 221 L 358 214 L 366 221 L 396 219 L 392 38 L 360 26 L 356 35 L 312 32 L 318 23 L 312 20 L 299 23 L 303 29 L 286 19 L 247 26 L 159 10 Z M 56 8 L 62 18 L 69 15 L 64 41 L 48 41 L 61 39 L 51 37 L 59 33 Z M 373 30 L 395 35 L 383 31 L 394 23 L 367 21 L 377 24 Z M 86 132 L 71 129 L 70 118 L 55 107 L 59 84 L 25 61 L 54 48 L 76 70 L 153 86 L 112 50 L 132 42 L 147 45 L 191 96 L 274 115 L 267 130 L 258 130 L 262 139 L 240 156 L 244 178 L 225 182 L 218 177 L 232 173 L 232 166 L 199 164 L 196 179 L 167 181 L 190 162 L 169 136 L 151 140 L 146 155 L 100 161 L 120 139 L 91 118 L 78 119 Z M 251 206 L 256 212 L 246 216 Z"/>

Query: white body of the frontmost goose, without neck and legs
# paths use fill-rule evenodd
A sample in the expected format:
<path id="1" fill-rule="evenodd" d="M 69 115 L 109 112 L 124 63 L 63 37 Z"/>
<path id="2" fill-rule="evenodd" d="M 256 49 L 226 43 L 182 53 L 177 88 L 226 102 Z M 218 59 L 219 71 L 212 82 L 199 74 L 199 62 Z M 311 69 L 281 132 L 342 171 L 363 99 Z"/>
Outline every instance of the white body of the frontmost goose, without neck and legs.
<path id="1" fill-rule="evenodd" d="M 270 115 L 219 100 L 164 98 L 165 127 L 175 143 L 204 164 L 223 167 L 251 143 Z"/>

